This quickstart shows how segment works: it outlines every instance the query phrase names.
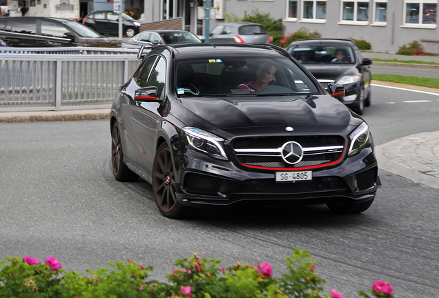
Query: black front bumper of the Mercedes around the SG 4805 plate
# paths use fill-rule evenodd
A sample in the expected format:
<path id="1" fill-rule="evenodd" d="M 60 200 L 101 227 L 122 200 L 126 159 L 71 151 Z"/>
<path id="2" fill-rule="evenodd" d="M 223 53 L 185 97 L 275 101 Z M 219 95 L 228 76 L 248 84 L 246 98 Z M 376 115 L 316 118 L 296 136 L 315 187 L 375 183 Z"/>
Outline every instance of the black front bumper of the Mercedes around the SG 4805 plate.
<path id="1" fill-rule="evenodd" d="M 313 170 L 312 181 L 287 183 L 276 182 L 275 171 L 243 170 L 197 152 L 186 152 L 186 157 L 175 185 L 177 199 L 186 206 L 359 203 L 373 199 L 381 186 L 372 148 L 332 168 Z"/>

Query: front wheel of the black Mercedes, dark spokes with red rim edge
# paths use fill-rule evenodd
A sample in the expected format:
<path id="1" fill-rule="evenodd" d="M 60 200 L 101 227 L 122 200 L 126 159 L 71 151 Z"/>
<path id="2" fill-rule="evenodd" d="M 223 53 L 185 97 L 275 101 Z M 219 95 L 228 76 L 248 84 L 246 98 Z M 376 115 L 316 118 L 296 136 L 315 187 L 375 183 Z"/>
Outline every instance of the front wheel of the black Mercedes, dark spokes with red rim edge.
<path id="1" fill-rule="evenodd" d="M 175 169 L 171 152 L 163 143 L 159 146 L 154 159 L 153 192 L 157 208 L 170 219 L 183 219 L 192 214 L 193 208 L 183 206 L 177 201 L 175 191 Z"/>

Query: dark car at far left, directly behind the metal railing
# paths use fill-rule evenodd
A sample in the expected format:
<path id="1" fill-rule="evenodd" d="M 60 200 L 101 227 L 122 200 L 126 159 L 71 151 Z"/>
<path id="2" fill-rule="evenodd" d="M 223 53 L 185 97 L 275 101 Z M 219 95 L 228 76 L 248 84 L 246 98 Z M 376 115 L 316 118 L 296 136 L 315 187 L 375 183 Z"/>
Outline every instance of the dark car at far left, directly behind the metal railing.
<path id="1" fill-rule="evenodd" d="M 119 41 L 112 39 L 111 41 Z M 17 48 L 101 46 L 108 38 L 67 19 L 48 17 L 1 17 L 0 45 Z"/>

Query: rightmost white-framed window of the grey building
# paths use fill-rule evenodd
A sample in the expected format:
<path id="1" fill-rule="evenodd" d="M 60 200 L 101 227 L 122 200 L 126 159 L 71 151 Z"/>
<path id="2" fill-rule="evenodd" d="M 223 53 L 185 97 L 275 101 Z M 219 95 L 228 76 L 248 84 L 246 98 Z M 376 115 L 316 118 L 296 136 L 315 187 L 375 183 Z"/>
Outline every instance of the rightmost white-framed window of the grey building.
<path id="1" fill-rule="evenodd" d="M 404 25 L 436 28 L 437 0 L 405 0 Z"/>

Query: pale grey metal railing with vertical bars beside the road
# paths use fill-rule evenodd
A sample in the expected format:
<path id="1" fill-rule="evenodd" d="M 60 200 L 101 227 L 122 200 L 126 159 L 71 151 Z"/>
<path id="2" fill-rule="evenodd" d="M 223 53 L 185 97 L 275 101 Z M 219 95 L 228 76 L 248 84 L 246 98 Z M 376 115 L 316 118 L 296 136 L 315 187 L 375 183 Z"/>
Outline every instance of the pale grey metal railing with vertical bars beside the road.
<path id="1" fill-rule="evenodd" d="M 0 53 L 0 112 L 109 107 L 140 61 L 137 50 L 108 50 L 127 49 L 107 49 L 107 54 Z"/>

